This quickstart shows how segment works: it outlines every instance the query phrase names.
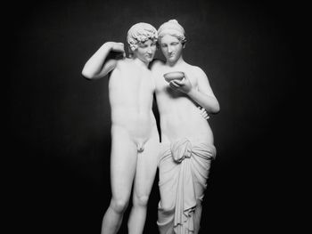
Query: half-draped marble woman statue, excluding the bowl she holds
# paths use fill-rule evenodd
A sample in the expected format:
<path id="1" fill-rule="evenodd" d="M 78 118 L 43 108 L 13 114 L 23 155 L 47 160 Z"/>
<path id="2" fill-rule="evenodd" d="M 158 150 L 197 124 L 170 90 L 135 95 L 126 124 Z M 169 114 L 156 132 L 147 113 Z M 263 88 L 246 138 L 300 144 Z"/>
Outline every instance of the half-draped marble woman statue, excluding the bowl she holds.
<path id="1" fill-rule="evenodd" d="M 198 233 L 201 200 L 216 149 L 209 123 L 197 106 L 212 114 L 218 113 L 219 104 L 202 69 L 183 59 L 184 28 L 169 20 L 158 34 L 166 57 L 166 62 L 152 63 L 162 145 L 158 225 L 161 234 Z M 163 75 L 169 71 L 183 71 L 185 77 L 168 83 Z"/>

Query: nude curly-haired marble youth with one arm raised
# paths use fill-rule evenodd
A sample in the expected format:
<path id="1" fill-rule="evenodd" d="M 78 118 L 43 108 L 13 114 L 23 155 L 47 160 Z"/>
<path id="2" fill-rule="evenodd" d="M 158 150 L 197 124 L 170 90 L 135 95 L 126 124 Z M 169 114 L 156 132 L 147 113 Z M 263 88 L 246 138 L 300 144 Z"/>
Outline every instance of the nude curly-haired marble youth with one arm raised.
<path id="1" fill-rule="evenodd" d="M 157 30 L 138 23 L 129 29 L 130 59 L 124 45 L 108 42 L 86 62 L 84 77 L 96 79 L 111 73 L 111 204 L 103 217 L 102 234 L 117 233 L 133 189 L 128 233 L 143 233 L 147 201 L 152 190 L 159 154 L 159 134 L 152 113 L 154 83 L 148 64 L 156 51 Z"/>

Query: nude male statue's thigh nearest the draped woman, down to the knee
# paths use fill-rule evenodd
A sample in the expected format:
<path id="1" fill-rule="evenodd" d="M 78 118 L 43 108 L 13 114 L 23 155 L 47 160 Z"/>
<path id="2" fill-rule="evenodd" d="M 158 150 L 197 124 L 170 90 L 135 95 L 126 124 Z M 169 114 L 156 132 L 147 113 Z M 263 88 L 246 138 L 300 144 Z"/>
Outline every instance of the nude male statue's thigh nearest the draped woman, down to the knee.
<path id="1" fill-rule="evenodd" d="M 155 135 L 145 143 L 144 151 L 137 156 L 134 187 L 137 197 L 149 196 L 155 179 L 159 153 L 160 141 L 158 135 Z"/>

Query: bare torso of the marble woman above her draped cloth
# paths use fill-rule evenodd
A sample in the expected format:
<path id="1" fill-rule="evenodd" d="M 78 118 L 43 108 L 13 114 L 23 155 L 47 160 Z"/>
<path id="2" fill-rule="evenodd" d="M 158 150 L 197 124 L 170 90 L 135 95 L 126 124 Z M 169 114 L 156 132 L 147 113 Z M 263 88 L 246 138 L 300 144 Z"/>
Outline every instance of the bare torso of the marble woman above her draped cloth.
<path id="1" fill-rule="evenodd" d="M 163 74 L 177 70 L 185 72 L 193 87 L 198 86 L 196 72 L 191 65 L 172 69 L 159 61 L 152 67 L 160 112 L 161 141 L 172 142 L 186 137 L 189 140 L 213 144 L 213 133 L 207 120 L 201 117 L 198 105 L 185 93 L 171 89 L 163 77 Z"/>

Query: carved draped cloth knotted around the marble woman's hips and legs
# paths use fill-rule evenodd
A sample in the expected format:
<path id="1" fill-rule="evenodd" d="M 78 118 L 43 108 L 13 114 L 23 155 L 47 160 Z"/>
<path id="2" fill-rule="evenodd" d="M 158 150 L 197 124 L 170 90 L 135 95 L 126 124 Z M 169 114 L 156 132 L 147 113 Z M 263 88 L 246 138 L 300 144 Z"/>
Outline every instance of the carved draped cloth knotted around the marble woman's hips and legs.
<path id="1" fill-rule="evenodd" d="M 160 234 L 193 233 L 197 199 L 202 200 L 207 187 L 210 162 L 216 148 L 207 143 L 193 143 L 186 138 L 164 144 L 160 151 Z M 199 227 L 196 227 L 196 229 Z"/>

